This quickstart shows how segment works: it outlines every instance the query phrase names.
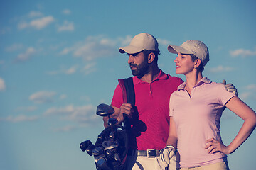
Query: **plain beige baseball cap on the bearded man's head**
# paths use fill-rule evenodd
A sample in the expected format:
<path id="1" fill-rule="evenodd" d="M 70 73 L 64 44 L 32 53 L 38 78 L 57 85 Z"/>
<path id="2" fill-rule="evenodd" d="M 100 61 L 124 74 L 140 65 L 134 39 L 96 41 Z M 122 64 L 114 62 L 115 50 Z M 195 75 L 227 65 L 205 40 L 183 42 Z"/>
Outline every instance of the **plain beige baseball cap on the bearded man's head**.
<path id="1" fill-rule="evenodd" d="M 119 52 L 127 52 L 129 54 L 135 54 L 143 50 L 158 50 L 158 42 L 153 35 L 140 33 L 132 38 L 132 41 L 128 46 L 119 48 Z"/>

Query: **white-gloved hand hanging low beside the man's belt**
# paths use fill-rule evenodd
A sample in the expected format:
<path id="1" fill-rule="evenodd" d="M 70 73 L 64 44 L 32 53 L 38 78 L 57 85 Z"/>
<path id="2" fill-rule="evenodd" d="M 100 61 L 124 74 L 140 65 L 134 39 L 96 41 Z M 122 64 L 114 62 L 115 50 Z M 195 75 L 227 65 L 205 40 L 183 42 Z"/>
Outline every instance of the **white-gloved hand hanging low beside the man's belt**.
<path id="1" fill-rule="evenodd" d="M 175 148 L 173 146 L 167 146 L 159 152 L 160 154 L 160 161 L 161 164 L 164 165 L 164 167 L 168 167 L 170 164 L 170 159 L 174 156 L 175 154 Z"/>

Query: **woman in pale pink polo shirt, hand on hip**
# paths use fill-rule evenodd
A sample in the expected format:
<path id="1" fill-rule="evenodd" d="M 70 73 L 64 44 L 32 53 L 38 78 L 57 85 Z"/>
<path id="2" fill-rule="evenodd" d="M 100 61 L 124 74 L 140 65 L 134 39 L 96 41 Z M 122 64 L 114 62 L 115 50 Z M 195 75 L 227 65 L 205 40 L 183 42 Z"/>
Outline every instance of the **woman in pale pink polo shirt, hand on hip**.
<path id="1" fill-rule="evenodd" d="M 167 147 L 161 158 L 168 162 L 174 149 L 180 155 L 181 169 L 228 169 L 227 154 L 238 149 L 256 125 L 255 112 L 223 84 L 203 77 L 209 61 L 208 48 L 198 40 L 188 40 L 181 46 L 169 45 L 178 54 L 176 74 L 184 74 L 186 82 L 170 97 L 170 130 Z M 220 137 L 220 117 L 225 107 L 238 115 L 244 123 L 230 145 Z M 169 162 L 168 162 L 169 163 Z"/>

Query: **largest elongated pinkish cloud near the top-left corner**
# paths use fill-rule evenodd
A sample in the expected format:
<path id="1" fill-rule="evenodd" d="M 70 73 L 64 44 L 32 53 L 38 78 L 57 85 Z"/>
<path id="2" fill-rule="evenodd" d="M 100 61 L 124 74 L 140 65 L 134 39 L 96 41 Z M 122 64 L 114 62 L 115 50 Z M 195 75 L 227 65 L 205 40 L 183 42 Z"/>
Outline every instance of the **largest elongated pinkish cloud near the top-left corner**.
<path id="1" fill-rule="evenodd" d="M 42 18 L 34 19 L 30 23 L 26 23 L 25 21 L 21 22 L 18 24 L 19 29 L 24 29 L 24 28 L 36 28 L 38 30 L 41 30 L 42 28 L 45 28 L 48 26 L 50 23 L 53 23 L 54 18 L 53 16 L 45 16 Z"/>

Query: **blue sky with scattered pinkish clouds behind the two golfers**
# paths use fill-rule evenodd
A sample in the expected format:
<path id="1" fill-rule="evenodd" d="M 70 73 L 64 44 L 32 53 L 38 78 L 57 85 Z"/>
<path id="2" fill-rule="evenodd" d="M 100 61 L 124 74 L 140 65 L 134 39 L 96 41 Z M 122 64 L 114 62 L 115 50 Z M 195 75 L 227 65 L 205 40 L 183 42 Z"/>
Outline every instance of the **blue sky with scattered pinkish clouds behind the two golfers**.
<path id="1" fill-rule="evenodd" d="M 175 74 L 167 45 L 202 40 L 203 72 L 226 79 L 256 110 L 255 1 L 0 1 L 0 169 L 95 169 L 80 151 L 103 130 L 95 114 L 110 104 L 118 78 L 132 74 L 118 48 L 134 35 L 159 40 L 159 67 Z M 220 123 L 228 145 L 242 125 Z M 230 168 L 254 169 L 256 135 L 228 156 Z"/>

